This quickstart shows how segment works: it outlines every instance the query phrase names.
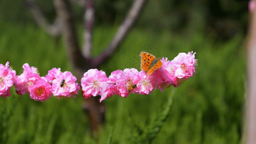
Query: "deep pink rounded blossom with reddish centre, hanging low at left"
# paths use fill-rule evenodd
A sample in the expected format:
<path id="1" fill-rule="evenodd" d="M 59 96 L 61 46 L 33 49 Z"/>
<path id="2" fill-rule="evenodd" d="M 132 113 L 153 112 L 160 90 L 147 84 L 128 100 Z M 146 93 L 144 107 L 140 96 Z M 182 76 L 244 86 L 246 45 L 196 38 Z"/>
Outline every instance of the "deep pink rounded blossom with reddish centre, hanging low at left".
<path id="1" fill-rule="evenodd" d="M 29 95 L 36 101 L 45 101 L 51 96 L 51 85 L 44 80 L 39 80 L 34 85 L 28 86 Z"/>

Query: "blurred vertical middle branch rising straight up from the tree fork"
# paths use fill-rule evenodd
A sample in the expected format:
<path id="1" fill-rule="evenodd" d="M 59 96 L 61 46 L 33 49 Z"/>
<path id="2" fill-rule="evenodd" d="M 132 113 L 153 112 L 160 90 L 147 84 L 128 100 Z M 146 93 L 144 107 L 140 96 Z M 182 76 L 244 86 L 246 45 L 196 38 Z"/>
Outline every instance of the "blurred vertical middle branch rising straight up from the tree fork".
<path id="1" fill-rule="evenodd" d="M 84 13 L 85 31 L 84 31 L 83 54 L 85 57 L 91 56 L 94 11 L 95 11 L 94 0 L 87 0 L 85 13 Z"/>

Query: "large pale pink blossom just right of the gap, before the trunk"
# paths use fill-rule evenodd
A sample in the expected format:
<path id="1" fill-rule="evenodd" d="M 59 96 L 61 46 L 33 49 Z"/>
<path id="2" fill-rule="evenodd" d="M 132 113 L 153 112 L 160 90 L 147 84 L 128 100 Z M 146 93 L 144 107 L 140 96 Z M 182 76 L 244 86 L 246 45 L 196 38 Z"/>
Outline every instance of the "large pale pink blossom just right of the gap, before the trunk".
<path id="1" fill-rule="evenodd" d="M 97 69 L 90 69 L 84 73 L 81 79 L 82 90 L 85 98 L 92 96 L 101 96 L 102 92 L 106 91 L 106 83 L 108 77 L 103 71 Z"/>

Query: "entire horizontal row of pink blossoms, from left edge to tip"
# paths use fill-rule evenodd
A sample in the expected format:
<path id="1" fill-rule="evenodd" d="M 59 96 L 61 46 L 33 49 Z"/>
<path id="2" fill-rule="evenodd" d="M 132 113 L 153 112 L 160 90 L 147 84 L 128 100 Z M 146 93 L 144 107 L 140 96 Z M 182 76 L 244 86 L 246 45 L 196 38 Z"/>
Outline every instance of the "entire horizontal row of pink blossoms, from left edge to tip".
<path id="1" fill-rule="evenodd" d="M 130 93 L 148 95 L 155 89 L 163 91 L 173 85 L 180 86 L 182 82 L 195 74 L 197 60 L 195 53 L 180 53 L 173 60 L 162 58 L 163 65 L 151 75 L 137 69 L 124 69 L 111 72 L 107 77 L 103 71 L 90 69 L 81 79 L 81 87 L 85 98 L 101 96 L 100 102 L 107 97 L 119 95 L 129 96 Z M 26 92 L 37 101 L 45 101 L 51 95 L 57 98 L 75 97 L 80 90 L 75 76 L 71 72 L 61 72 L 53 68 L 45 77 L 40 77 L 37 68 L 23 65 L 24 72 L 16 75 L 9 68 L 9 62 L 0 64 L 0 96 L 11 96 L 10 88 L 14 84 L 16 93 L 24 95 Z"/>

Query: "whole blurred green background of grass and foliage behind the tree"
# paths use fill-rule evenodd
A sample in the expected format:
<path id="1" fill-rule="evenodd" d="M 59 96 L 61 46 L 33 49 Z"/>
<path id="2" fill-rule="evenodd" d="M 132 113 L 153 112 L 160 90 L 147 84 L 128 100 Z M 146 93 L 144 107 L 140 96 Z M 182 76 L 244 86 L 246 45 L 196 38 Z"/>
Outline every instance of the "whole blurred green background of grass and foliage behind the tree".
<path id="1" fill-rule="evenodd" d="M 37 3 L 53 22 L 52 1 Z M 93 55 L 108 46 L 132 3 L 95 1 Z M 72 7 L 82 44 L 84 10 L 75 3 Z M 106 122 L 94 138 L 81 94 L 37 102 L 27 94 L 16 95 L 12 87 L 11 97 L 0 97 L 0 143 L 243 143 L 247 7 L 247 0 L 149 0 L 121 47 L 99 69 L 109 76 L 125 68 L 133 56 L 139 59 L 137 52 L 147 44 L 157 57 L 170 60 L 179 52 L 196 52 L 195 76 L 164 92 L 104 100 Z M 73 71 L 63 39 L 39 28 L 23 0 L 0 0 L 0 63 L 6 61 L 17 75 L 24 63 L 37 67 L 41 76 L 54 67 Z"/>

